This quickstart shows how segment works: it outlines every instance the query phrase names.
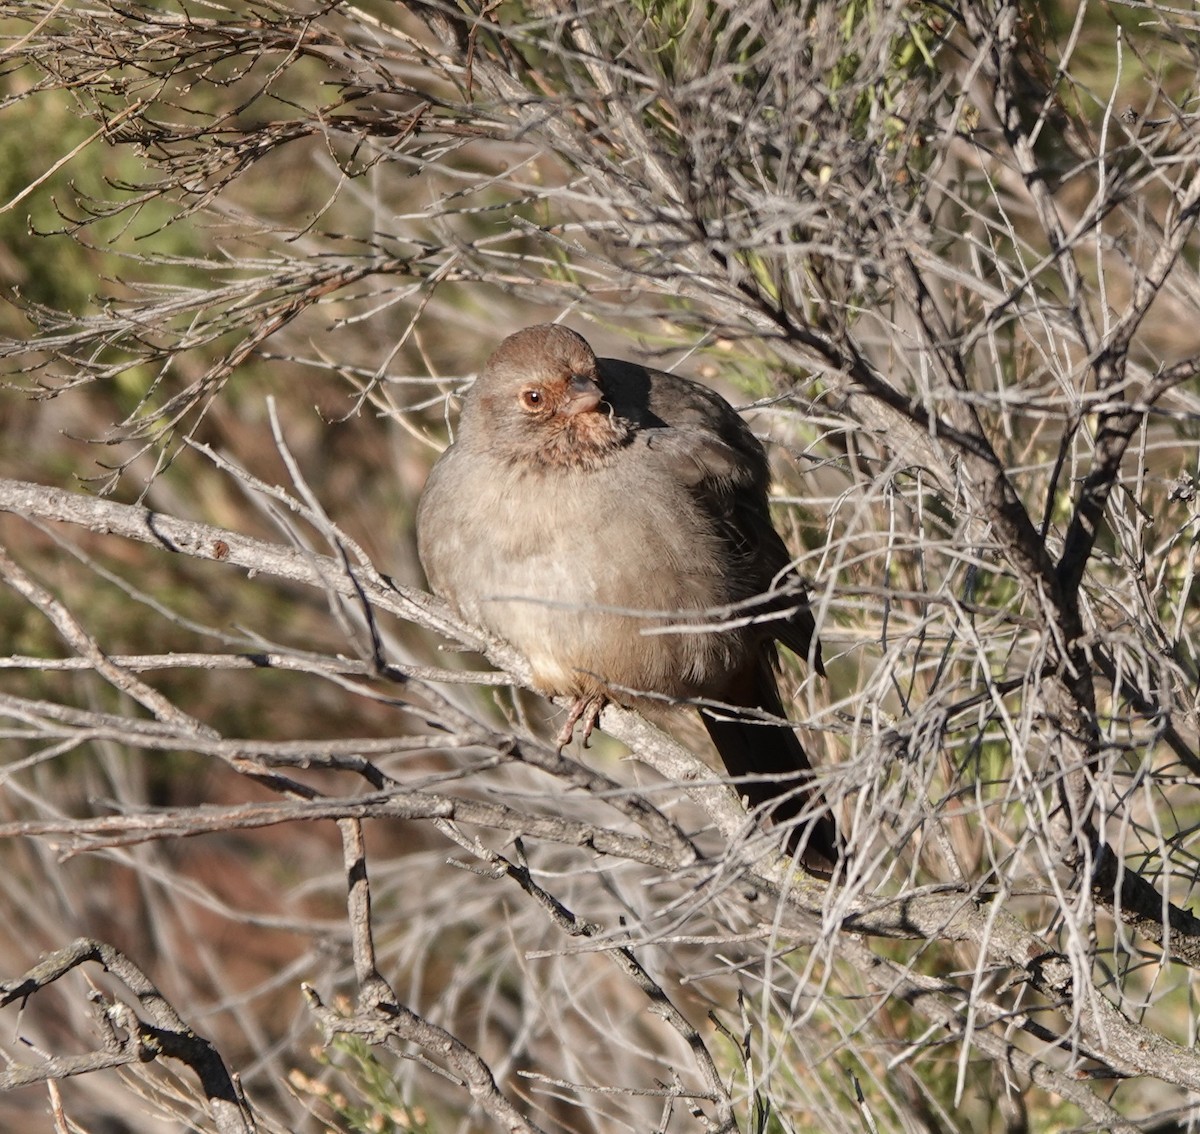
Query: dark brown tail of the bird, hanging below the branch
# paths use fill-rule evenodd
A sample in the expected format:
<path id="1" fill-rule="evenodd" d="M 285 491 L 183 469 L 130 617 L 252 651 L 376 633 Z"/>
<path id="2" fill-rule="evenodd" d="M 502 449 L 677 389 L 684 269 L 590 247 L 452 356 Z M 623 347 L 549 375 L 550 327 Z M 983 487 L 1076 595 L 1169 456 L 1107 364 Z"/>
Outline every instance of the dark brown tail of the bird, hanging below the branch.
<path id="1" fill-rule="evenodd" d="M 749 683 L 748 683 L 749 684 Z M 744 707 L 786 718 L 770 664 L 764 659 L 754 674 Z M 732 776 L 751 806 L 762 806 L 776 824 L 788 824 L 787 850 L 800 862 L 829 869 L 838 862 L 838 826 L 824 800 L 812 787 L 812 764 L 796 733 L 757 716 L 737 716 L 736 709 L 701 710 L 701 720 Z"/>

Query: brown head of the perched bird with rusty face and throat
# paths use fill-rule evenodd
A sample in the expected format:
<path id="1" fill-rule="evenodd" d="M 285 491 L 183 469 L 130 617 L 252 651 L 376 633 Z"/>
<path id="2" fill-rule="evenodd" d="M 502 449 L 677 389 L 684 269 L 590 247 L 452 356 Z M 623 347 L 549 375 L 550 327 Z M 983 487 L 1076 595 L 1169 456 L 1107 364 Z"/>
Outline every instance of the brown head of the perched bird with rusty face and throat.
<path id="1" fill-rule="evenodd" d="M 467 392 L 461 428 L 514 462 L 570 468 L 602 463 L 630 432 L 587 341 L 548 323 L 500 343 Z"/>

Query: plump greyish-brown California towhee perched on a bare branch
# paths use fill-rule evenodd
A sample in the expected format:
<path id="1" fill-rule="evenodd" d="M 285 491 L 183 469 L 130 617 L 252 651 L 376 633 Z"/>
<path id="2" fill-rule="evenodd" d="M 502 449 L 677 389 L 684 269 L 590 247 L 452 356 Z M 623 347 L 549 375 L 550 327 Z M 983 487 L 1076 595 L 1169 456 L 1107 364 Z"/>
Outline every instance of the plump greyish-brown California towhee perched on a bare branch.
<path id="1" fill-rule="evenodd" d="M 725 767 L 749 778 L 738 791 L 776 822 L 804 812 L 790 847 L 833 862 L 804 749 L 764 722 L 785 716 L 776 640 L 824 672 L 768 480 L 762 445 L 718 394 L 530 326 L 467 391 L 418 545 L 437 594 L 515 646 L 539 690 L 575 698 L 563 743 L 607 698 L 719 702 L 701 716 Z"/>

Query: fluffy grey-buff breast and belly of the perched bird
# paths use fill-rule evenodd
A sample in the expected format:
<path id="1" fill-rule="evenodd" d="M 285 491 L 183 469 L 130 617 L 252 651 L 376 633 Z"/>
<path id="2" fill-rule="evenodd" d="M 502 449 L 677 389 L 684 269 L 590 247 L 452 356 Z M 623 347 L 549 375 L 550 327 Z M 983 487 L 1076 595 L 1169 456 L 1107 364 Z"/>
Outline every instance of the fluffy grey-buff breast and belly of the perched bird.
<path id="1" fill-rule="evenodd" d="M 426 490 L 419 529 L 434 589 L 511 642 L 547 692 L 698 696 L 740 664 L 738 632 L 698 629 L 730 601 L 730 563 L 679 486 L 619 466 L 455 470 Z"/>

